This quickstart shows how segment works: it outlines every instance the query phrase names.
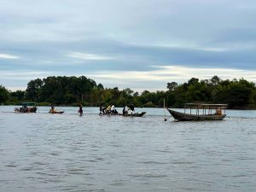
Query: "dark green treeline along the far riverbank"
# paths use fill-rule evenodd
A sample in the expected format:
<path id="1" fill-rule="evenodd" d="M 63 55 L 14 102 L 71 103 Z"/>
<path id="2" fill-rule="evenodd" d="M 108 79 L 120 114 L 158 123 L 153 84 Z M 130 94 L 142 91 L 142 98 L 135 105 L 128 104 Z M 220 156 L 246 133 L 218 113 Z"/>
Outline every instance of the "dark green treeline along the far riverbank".
<path id="1" fill-rule="evenodd" d="M 227 103 L 229 108 L 256 108 L 256 87 L 253 82 L 245 79 L 189 79 L 188 82 L 177 84 L 167 83 L 167 90 L 149 92 L 144 90 L 141 94 L 126 88 L 104 88 L 92 79 L 84 76 L 77 77 L 48 77 L 34 79 L 27 84 L 25 91 L 9 91 L 0 85 L 0 103 L 16 104 L 19 102 L 38 102 L 49 105 L 77 105 L 82 102 L 84 106 L 99 106 L 114 104 L 122 107 L 133 103 L 137 107 L 163 107 L 183 108 L 186 102 Z"/>

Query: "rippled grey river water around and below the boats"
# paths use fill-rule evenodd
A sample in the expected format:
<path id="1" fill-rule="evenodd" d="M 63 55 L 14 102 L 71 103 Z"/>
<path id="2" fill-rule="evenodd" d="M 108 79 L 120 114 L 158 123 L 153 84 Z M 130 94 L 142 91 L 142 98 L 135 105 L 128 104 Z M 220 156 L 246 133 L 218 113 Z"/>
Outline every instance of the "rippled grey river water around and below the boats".
<path id="1" fill-rule="evenodd" d="M 0 191 L 255 191 L 256 113 L 217 122 L 0 108 Z M 168 114 L 169 117 L 169 114 Z"/>

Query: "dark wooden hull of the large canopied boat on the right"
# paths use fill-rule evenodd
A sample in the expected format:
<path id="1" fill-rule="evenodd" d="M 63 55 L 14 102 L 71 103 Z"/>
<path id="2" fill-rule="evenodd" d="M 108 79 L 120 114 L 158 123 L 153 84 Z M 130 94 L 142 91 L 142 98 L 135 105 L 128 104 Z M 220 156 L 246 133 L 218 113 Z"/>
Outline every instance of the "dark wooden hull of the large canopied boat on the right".
<path id="1" fill-rule="evenodd" d="M 226 114 L 216 115 L 216 114 L 188 114 L 188 113 L 180 113 L 177 111 L 173 111 L 167 108 L 168 112 L 172 114 L 174 119 L 178 121 L 202 121 L 202 120 L 222 120 L 225 118 Z"/>

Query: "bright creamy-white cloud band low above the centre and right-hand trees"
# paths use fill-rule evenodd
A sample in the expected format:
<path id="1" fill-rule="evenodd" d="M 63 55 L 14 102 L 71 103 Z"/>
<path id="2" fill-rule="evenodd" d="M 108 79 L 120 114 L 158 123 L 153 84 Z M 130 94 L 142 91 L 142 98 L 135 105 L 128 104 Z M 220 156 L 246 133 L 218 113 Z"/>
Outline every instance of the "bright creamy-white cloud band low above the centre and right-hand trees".
<path id="1" fill-rule="evenodd" d="M 118 86 L 120 89 L 126 87 L 131 90 L 166 90 L 168 82 L 175 81 L 179 84 L 187 82 L 191 78 L 211 79 L 217 75 L 220 79 L 247 79 L 256 82 L 256 70 L 239 70 L 230 68 L 198 68 L 161 66 L 154 71 L 148 72 L 122 72 L 105 71 L 90 74 L 90 78 L 102 83 L 107 87 Z"/>

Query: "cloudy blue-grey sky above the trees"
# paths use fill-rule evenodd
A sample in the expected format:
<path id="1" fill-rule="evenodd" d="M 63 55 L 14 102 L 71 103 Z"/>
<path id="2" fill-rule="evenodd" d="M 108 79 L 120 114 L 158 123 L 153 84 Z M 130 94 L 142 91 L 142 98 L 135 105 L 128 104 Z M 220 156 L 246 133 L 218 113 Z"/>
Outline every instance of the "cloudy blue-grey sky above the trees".
<path id="1" fill-rule="evenodd" d="M 254 0 L 0 0 L 0 84 L 82 76 L 166 90 L 191 78 L 256 83 Z"/>

